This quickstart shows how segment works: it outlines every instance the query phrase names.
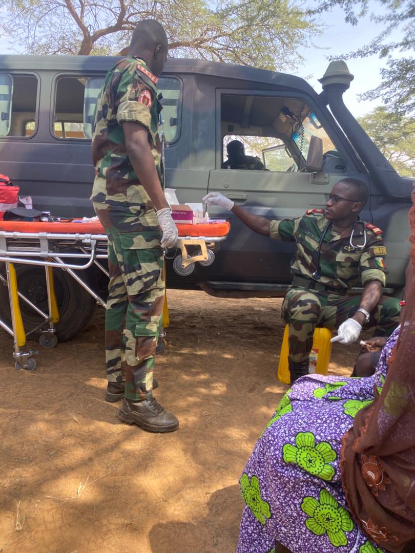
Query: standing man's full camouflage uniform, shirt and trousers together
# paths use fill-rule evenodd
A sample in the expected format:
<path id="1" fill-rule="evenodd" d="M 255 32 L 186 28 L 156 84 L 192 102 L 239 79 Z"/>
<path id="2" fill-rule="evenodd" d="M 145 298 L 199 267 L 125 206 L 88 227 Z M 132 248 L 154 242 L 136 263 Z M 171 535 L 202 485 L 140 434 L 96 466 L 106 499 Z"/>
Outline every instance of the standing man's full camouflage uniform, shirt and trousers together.
<path id="1" fill-rule="evenodd" d="M 128 159 L 122 122 L 147 128 L 162 180 L 157 81 L 143 60 L 118 61 L 98 96 L 92 138 L 91 200 L 108 237 L 107 379 L 125 380 L 125 397 L 133 401 L 152 396 L 164 274 L 157 215 Z"/>

